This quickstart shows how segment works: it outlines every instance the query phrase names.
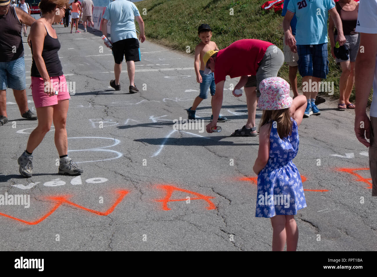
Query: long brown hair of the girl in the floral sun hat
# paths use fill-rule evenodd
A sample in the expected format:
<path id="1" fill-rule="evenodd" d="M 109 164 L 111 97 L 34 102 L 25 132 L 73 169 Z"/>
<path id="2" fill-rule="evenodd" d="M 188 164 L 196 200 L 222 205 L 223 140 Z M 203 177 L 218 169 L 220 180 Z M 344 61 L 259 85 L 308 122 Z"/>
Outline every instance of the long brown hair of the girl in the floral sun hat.
<path id="1" fill-rule="evenodd" d="M 289 112 L 289 108 L 282 110 L 263 110 L 261 122 L 259 123 L 259 130 L 265 124 L 272 123 L 274 127 L 274 121 L 276 121 L 276 129 L 280 139 L 290 136 L 292 133 L 292 121 Z"/>

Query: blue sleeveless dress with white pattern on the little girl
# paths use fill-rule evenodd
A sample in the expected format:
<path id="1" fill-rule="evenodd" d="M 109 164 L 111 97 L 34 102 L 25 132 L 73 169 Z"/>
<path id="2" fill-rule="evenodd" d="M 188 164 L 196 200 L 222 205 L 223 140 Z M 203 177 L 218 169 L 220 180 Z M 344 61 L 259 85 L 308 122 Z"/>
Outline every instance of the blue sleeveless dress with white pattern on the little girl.
<path id="1" fill-rule="evenodd" d="M 256 217 L 293 215 L 307 207 L 301 177 L 292 162 L 299 150 L 299 135 L 297 122 L 291 120 L 292 133 L 284 139 L 271 126 L 270 157 L 258 174 Z"/>

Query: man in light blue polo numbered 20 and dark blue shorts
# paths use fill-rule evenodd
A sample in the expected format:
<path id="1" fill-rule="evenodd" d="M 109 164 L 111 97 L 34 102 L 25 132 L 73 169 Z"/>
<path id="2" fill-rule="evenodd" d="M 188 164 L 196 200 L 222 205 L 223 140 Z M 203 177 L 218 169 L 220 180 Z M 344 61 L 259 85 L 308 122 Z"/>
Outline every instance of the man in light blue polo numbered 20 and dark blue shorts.
<path id="1" fill-rule="evenodd" d="M 327 60 L 328 13 L 334 20 L 339 34 L 337 41 L 342 46 L 346 39 L 334 0 L 290 0 L 287 14 L 283 20 L 285 42 L 291 49 L 296 46 L 299 55 L 298 67 L 302 76 L 303 94 L 308 100 L 304 117 L 320 115 L 315 98 L 321 79 L 326 78 L 329 71 Z M 293 37 L 290 30 L 293 15 L 297 17 L 296 38 Z M 305 88 L 308 88 L 308 91 Z"/>

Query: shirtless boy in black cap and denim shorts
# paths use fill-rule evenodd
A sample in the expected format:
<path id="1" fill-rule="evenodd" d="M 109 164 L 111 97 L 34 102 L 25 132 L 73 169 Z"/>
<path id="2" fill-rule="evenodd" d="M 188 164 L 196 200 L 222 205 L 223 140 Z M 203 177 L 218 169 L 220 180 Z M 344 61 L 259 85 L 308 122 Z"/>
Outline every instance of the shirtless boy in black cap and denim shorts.
<path id="1" fill-rule="evenodd" d="M 210 50 L 217 50 L 219 51 L 215 42 L 211 41 L 212 37 L 212 29 L 208 24 L 201 24 L 198 28 L 199 38 L 201 39 L 201 43 L 199 43 L 195 47 L 195 73 L 196 73 L 196 81 L 200 83 L 200 94 L 196 96 L 192 107 L 187 109 L 187 114 L 189 115 L 189 119 L 195 119 L 195 111 L 199 104 L 202 102 L 203 99 L 207 99 L 208 89 L 210 89 L 211 96 L 215 95 L 215 77 L 213 72 L 205 75 L 205 63 L 203 62 L 203 56 Z M 200 61 L 200 70 L 199 70 L 199 61 Z M 211 99 L 211 106 L 212 106 L 212 99 Z M 211 121 L 213 120 L 213 115 L 211 115 Z M 218 122 L 226 121 L 226 117 L 219 116 Z"/>

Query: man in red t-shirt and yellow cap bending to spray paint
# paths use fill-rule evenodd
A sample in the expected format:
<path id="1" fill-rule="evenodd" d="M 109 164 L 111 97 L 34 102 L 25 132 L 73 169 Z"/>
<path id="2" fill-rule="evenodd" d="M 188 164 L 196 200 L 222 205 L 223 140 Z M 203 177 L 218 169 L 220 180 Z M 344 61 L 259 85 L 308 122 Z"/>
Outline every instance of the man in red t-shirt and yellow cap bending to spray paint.
<path id="1" fill-rule="evenodd" d="M 241 77 L 234 90 L 242 87 L 245 89 L 248 118 L 241 129 L 235 130 L 232 136 L 256 136 L 255 112 L 259 93 L 259 83 L 268 77 L 277 77 L 277 72 L 284 63 L 284 54 L 276 45 L 263 41 L 245 39 L 238 40 L 220 51 L 210 50 L 205 53 L 203 61 L 206 64 L 204 74 L 211 71 L 215 74 L 216 91 L 213 96 L 212 113 L 213 121 L 206 126 L 207 132 L 217 124 L 222 96 L 224 92 L 225 77 Z M 236 94 L 236 97 L 242 96 Z"/>

